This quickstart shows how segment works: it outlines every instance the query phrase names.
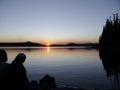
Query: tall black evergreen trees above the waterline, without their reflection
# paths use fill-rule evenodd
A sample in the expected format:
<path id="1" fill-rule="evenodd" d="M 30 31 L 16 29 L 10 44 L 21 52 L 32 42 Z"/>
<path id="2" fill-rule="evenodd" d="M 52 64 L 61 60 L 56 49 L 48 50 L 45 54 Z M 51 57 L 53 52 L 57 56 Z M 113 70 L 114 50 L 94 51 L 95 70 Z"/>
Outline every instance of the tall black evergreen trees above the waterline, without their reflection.
<path id="1" fill-rule="evenodd" d="M 118 48 L 120 46 L 120 18 L 118 13 L 107 18 L 99 39 L 100 48 Z"/>

